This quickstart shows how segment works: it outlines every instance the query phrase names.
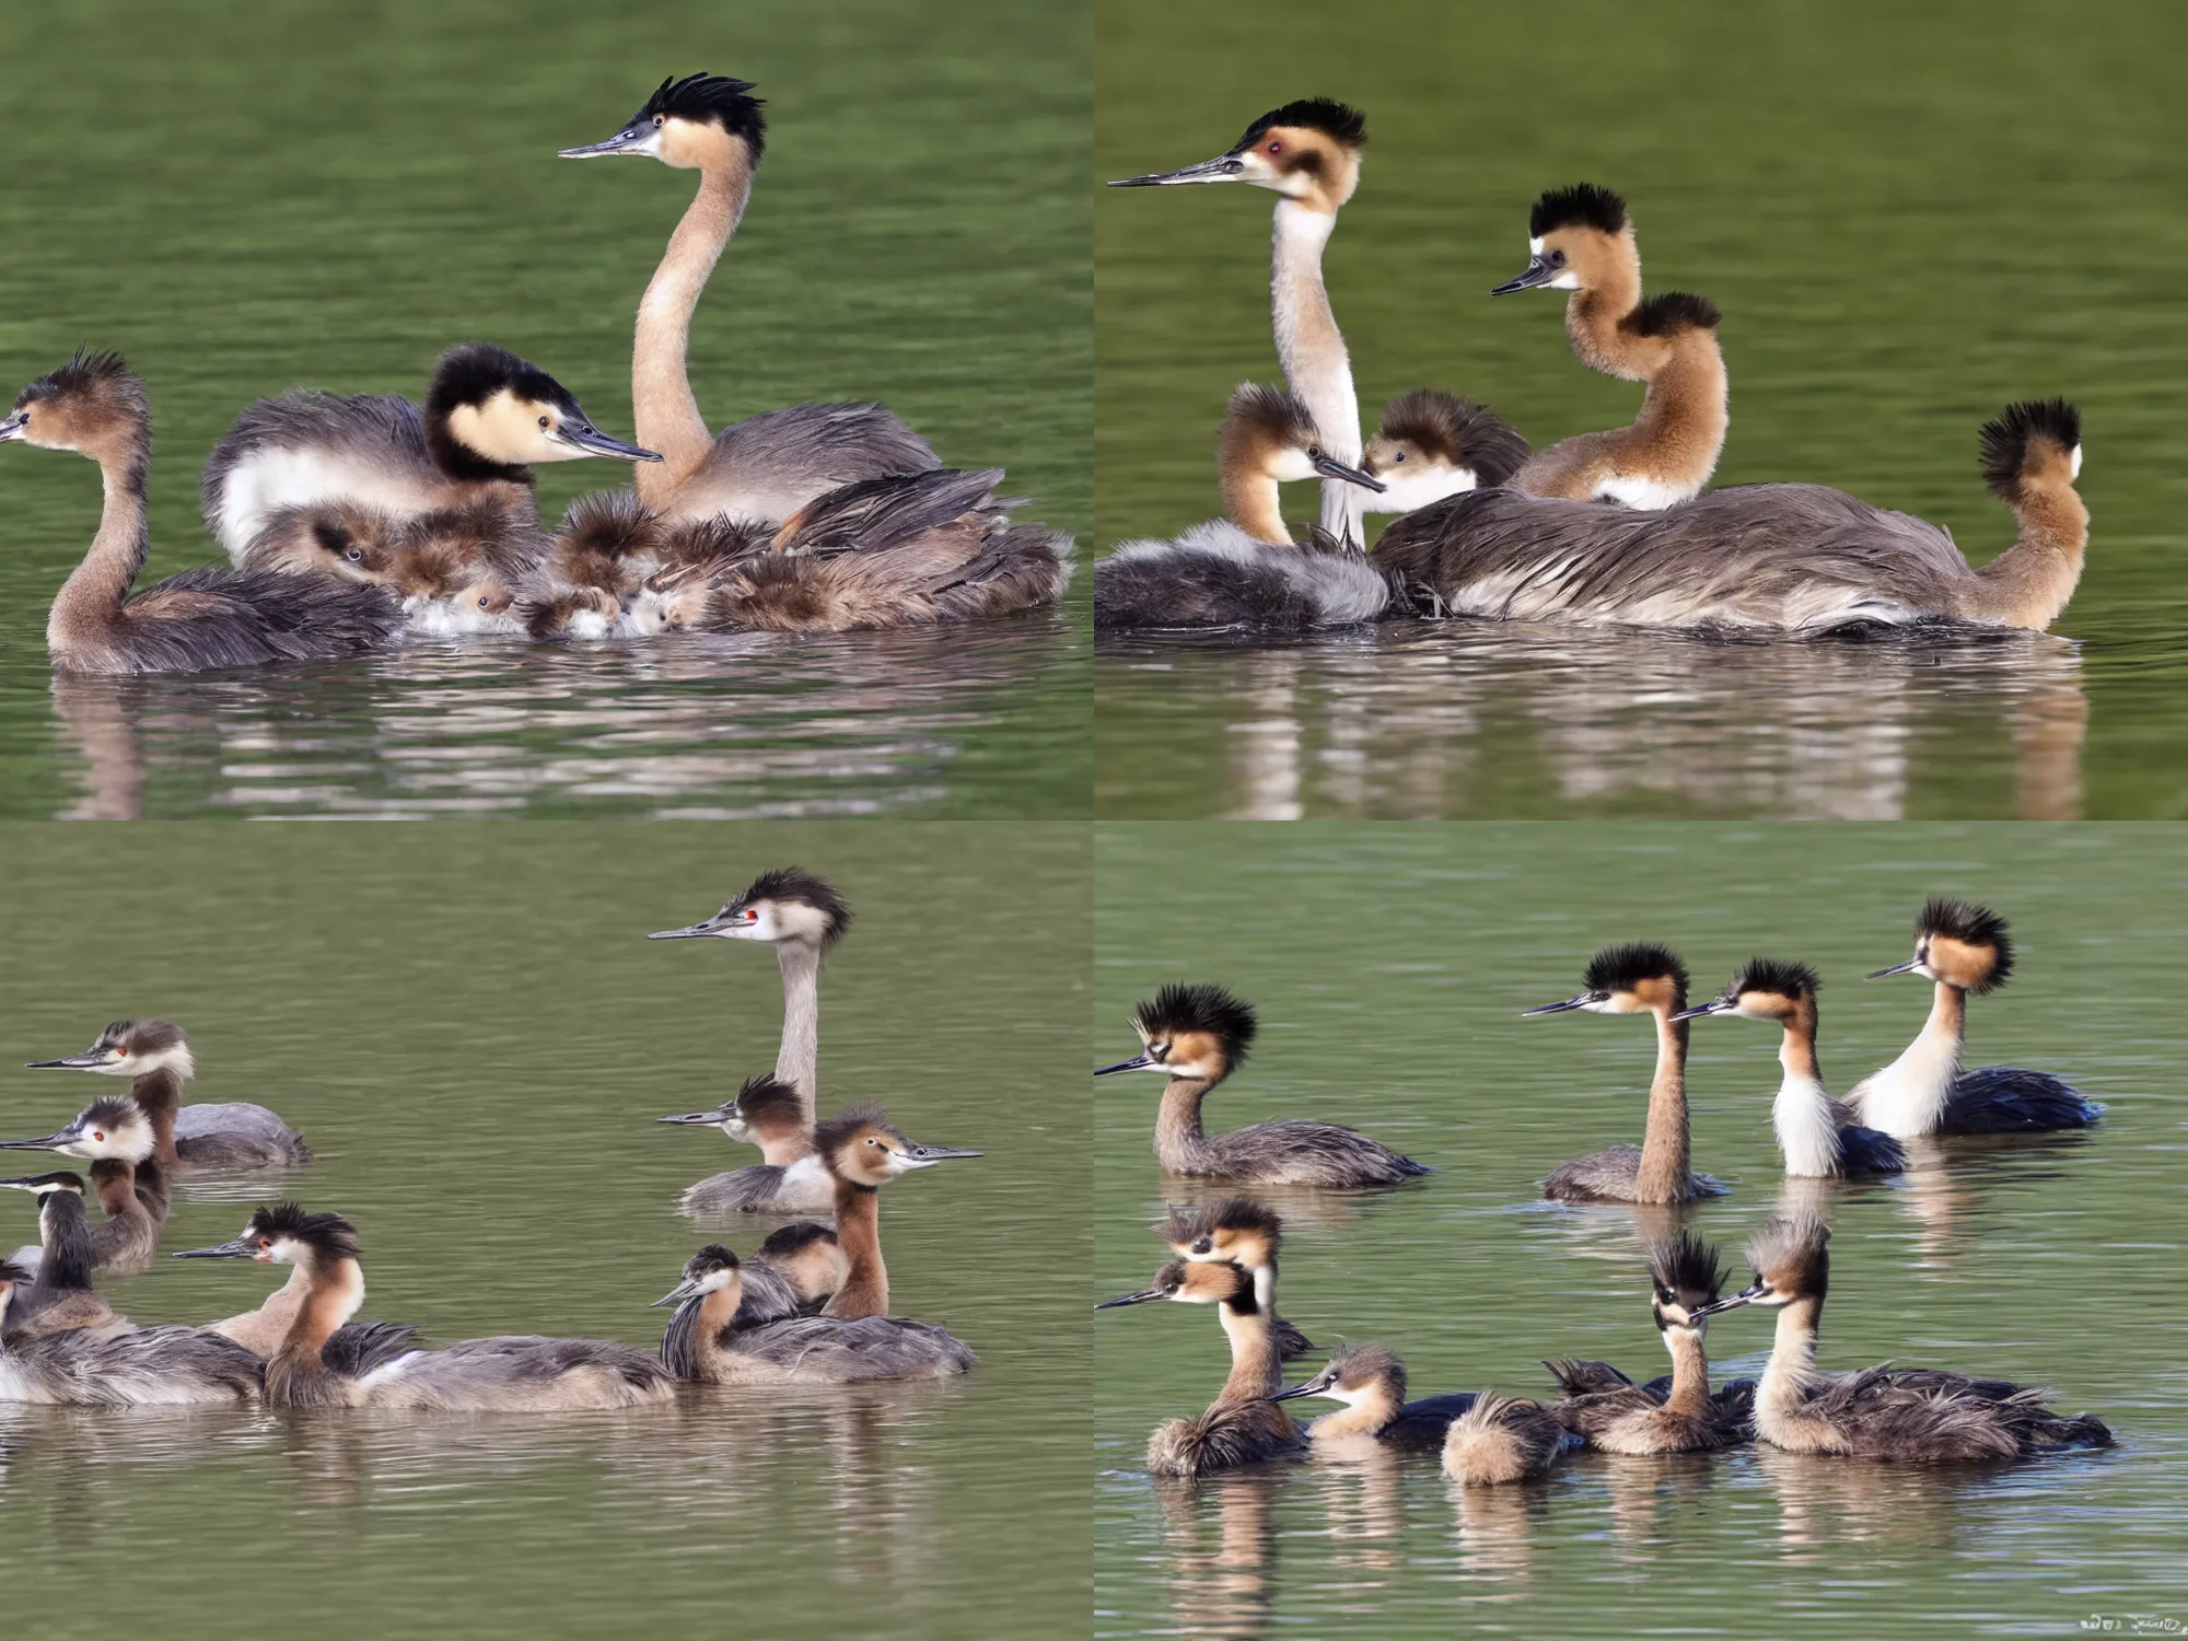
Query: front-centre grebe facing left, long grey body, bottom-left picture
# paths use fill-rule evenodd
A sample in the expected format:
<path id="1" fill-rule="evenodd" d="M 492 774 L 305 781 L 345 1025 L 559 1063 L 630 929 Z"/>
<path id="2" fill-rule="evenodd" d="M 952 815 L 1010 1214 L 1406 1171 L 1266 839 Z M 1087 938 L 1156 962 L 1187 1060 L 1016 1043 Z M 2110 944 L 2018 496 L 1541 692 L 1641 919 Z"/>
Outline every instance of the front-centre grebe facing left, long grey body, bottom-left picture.
<path id="1" fill-rule="evenodd" d="M 328 1354 L 365 1300 L 357 1227 L 341 1214 L 306 1214 L 295 1203 L 260 1210 L 243 1234 L 175 1258 L 245 1258 L 295 1265 L 304 1293 L 295 1319 L 265 1359 L 269 1407 L 414 1407 L 444 1413 L 536 1413 L 645 1407 L 676 1396 L 676 1381 L 643 1350 L 602 1339 L 505 1335 L 438 1350 L 403 1350 L 357 1376 L 344 1352 Z M 225 1339 L 245 1357 L 252 1352 Z M 258 1357 L 252 1357 L 256 1363 Z"/>

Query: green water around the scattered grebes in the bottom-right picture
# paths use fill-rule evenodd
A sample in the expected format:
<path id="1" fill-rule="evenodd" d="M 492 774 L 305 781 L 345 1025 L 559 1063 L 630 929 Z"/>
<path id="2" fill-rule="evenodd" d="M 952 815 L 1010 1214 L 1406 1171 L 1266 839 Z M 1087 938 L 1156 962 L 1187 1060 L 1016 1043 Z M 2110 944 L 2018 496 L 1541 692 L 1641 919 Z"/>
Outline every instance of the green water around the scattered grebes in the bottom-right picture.
<path id="1" fill-rule="evenodd" d="M 2188 1538 L 2179 1197 L 2188 1052 L 2173 928 L 2188 860 L 2155 827 L 1103 827 L 1096 1063 L 1136 998 L 1223 980 L 1260 1006 L 1219 1127 L 1354 1122 L 1435 1164 L 1398 1192 L 1293 1192 L 1278 1306 L 1317 1343 L 1383 1339 L 1416 1394 L 1549 1387 L 1540 1357 L 1663 1370 L 1630 1210 L 1538 1199 L 1558 1162 L 1641 1133 L 1645 1022 L 1553 1015 L 1610 941 L 1680 950 L 1698 987 L 1757 952 L 1814 963 L 1820 1059 L 1844 1092 L 1915 1035 L 1901 961 L 1932 893 L 2013 921 L 2013 982 L 1969 1011 L 1976 1063 L 2041 1066 L 2109 1103 L 2087 1140 L 1921 1155 L 1829 1203 L 1820 1361 L 1897 1359 L 2057 1387 L 2109 1453 L 2006 1470 L 1774 1451 L 1582 1455 L 1540 1486 L 1455 1497 L 1431 1459 L 1278 1464 L 1192 1486 L 1138 1468 L 1147 1433 L 1225 1370 L 1214 1317 L 1094 1317 L 1096 1634 L 2061 1634 L 2090 1615 L 2179 1619 Z M 1777 1201 L 1774 1033 L 1694 1026 L 1696 1166 L 1733 1186 L 1696 1230 L 1742 1271 Z M 1096 1282 L 1142 1287 L 1160 1083 L 1094 1085 Z M 1768 1319 L 1711 1324 L 1753 1372 Z M 1304 1376 L 1304 1372 L 1302 1372 Z M 1297 1383 L 1297 1381 L 1293 1381 Z M 1322 1405 L 1328 1407 L 1328 1405 Z"/>

